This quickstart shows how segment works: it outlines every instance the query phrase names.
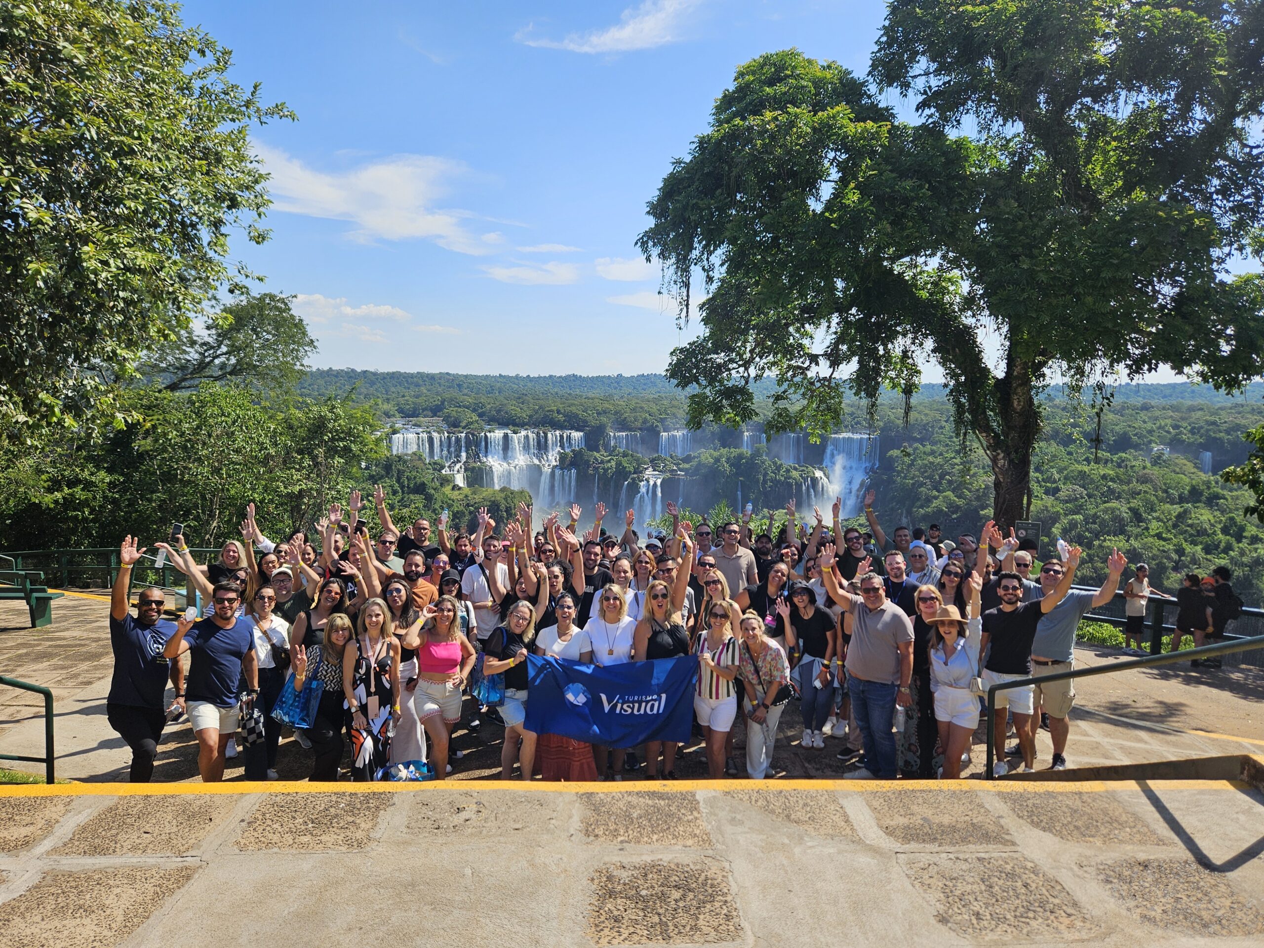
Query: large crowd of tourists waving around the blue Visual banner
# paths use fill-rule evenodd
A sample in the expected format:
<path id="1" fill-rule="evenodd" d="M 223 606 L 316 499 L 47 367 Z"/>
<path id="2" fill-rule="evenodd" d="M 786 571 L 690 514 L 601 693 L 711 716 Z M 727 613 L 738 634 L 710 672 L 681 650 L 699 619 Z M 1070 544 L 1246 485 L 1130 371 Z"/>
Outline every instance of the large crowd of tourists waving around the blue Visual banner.
<path id="1" fill-rule="evenodd" d="M 348 742 L 355 780 L 418 762 L 442 780 L 461 757 L 454 728 L 464 718 L 477 732 L 488 715 L 504 727 L 504 779 L 514 767 L 525 780 L 622 780 L 642 767 L 674 779 L 674 742 L 600 747 L 528 731 L 526 657 L 608 666 L 696 656 L 694 712 L 712 777 L 774 774 L 793 699 L 801 747 L 842 738 L 838 757 L 853 766 L 847 777 L 956 777 L 969 761 L 981 695 L 992 684 L 1069 671 L 1081 617 L 1114 598 L 1126 561 L 1114 552 L 1100 589 L 1072 590 L 1076 547 L 1031 578 L 1034 551 L 1012 530 L 1005 537 L 988 522 L 977 537 L 952 542 L 932 525 L 897 527 L 887 538 L 873 499 L 870 492 L 868 535 L 843 528 L 836 501 L 832 530 L 819 509 L 810 530 L 798 525 L 791 502 L 776 536 L 752 536 L 750 511 L 695 528 L 672 504 L 671 528 L 645 537 L 632 511 L 618 535 L 608 531 L 603 504 L 583 535 L 578 506 L 569 523 L 555 513 L 538 530 L 521 506 L 503 532 L 483 509 L 473 536 L 453 536 L 446 511 L 435 531 L 427 518 L 398 530 L 378 488 L 375 530 L 354 492 L 345 511 L 334 504 L 317 523 L 319 544 L 302 532 L 273 542 L 252 504 L 241 541 L 224 544 L 212 562 L 195 562 L 182 542 L 155 544 L 206 604 L 201 617 L 174 622 L 163 618 L 159 588 L 143 589 L 130 612 L 131 570 L 145 550 L 129 536 L 111 598 L 109 720 L 131 747 L 131 780 L 145 781 L 164 724 L 187 714 L 202 779 L 216 781 L 238 751 L 243 712 L 259 710 L 262 738 L 241 750 L 245 776 L 276 779 L 283 724 L 272 712 L 283 689 L 301 694 L 320 681 L 313 723 L 295 732 L 312 752 L 312 780 L 339 779 Z M 1140 584 L 1129 583 L 1130 616 L 1138 595 L 1155 594 L 1145 574 L 1139 566 Z M 1203 597 L 1201 580 L 1196 589 Z M 1191 607 L 1186 621 L 1196 637 L 1216 633 L 1215 608 L 1196 619 Z M 503 694 L 480 705 L 477 685 L 492 676 Z M 1050 766 L 1066 767 L 1072 681 L 997 698 L 997 747 L 1011 723 L 1018 741 L 1007 751 L 1014 763 L 996 772 L 1034 767 L 1042 724 Z M 739 715 L 744 767 L 733 752 Z"/>

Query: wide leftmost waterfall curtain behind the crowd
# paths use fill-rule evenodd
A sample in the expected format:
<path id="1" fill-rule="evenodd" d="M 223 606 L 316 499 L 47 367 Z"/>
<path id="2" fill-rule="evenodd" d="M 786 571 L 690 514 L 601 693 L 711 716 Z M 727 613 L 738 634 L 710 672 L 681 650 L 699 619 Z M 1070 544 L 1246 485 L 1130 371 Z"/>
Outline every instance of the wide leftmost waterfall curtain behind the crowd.
<path id="1" fill-rule="evenodd" d="M 479 487 L 527 490 L 540 511 L 555 511 L 575 501 L 575 471 L 559 469 L 557 455 L 584 446 L 583 431 L 422 431 L 391 436 L 392 454 L 420 454 L 442 461 L 444 470 L 465 487 L 465 465 L 484 465 Z"/>

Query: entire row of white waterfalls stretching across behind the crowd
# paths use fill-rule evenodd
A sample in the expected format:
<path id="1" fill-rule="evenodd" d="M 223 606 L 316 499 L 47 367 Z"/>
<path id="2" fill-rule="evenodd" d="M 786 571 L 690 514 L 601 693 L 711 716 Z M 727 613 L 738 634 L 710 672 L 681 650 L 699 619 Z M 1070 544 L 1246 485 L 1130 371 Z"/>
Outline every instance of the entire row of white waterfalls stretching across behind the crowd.
<path id="1" fill-rule="evenodd" d="M 731 449 L 758 454 L 793 465 L 790 483 L 776 490 L 734 478 L 732 470 L 713 470 L 708 450 Z M 592 454 L 583 431 L 527 428 L 511 431 L 447 431 L 404 426 L 391 435 L 392 454 L 420 454 L 439 461 L 461 487 L 508 487 L 527 490 L 540 512 L 562 511 L 579 503 L 585 517 L 597 502 L 605 503 L 611 517 L 628 508 L 637 523 L 666 513 L 669 501 L 693 511 L 710 509 L 727 501 L 734 511 L 747 502 L 760 508 L 785 504 L 794 495 L 808 520 L 813 507 L 829 516 L 834 497 L 843 498 L 842 514 L 854 516 L 870 473 L 878 464 L 878 439 L 866 434 L 837 434 L 811 444 L 804 434 L 774 435 L 762 431 L 611 431 Z M 579 453 L 573 456 L 573 453 Z M 628 454 L 637 455 L 628 464 Z M 594 459 L 618 456 L 621 464 L 597 464 Z M 575 460 L 583 458 L 583 473 Z M 621 473 L 604 474 L 602 468 Z M 786 470 L 781 468 L 780 470 Z M 765 494 L 775 495 L 765 495 Z"/>

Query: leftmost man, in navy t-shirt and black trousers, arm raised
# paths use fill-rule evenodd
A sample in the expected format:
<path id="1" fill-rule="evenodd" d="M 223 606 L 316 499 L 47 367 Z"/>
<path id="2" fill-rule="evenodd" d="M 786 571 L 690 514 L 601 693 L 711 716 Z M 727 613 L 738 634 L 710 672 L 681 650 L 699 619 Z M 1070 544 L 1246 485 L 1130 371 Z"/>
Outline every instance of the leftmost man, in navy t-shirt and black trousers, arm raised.
<path id="1" fill-rule="evenodd" d="M 131 782 L 148 784 L 154 772 L 158 739 L 167 715 L 163 694 L 167 679 L 176 689 L 176 704 L 185 709 L 185 674 L 179 662 L 163 655 L 176 626 L 162 618 L 163 592 L 144 589 L 137 614 L 128 611 L 131 568 L 145 551 L 137 549 L 130 536 L 119 547 L 119 575 L 110 590 L 110 650 L 114 652 L 114 678 L 105 699 L 106 720 L 131 748 Z"/>

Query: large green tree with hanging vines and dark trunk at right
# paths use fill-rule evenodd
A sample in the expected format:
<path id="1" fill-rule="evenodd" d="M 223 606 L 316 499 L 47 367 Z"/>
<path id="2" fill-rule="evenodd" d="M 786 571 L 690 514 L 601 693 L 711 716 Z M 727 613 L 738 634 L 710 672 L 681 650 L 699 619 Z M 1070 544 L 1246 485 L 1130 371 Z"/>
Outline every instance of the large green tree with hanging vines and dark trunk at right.
<path id="1" fill-rule="evenodd" d="M 920 124 L 837 63 L 742 66 L 638 241 L 683 307 L 709 291 L 667 370 L 690 423 L 751 418 L 771 377 L 770 425 L 822 432 L 933 358 L 1012 522 L 1059 375 L 1259 375 L 1264 282 L 1227 264 L 1264 254 L 1260 11 L 894 0 L 873 86 Z"/>

